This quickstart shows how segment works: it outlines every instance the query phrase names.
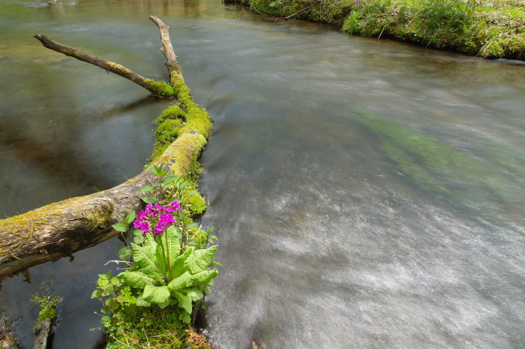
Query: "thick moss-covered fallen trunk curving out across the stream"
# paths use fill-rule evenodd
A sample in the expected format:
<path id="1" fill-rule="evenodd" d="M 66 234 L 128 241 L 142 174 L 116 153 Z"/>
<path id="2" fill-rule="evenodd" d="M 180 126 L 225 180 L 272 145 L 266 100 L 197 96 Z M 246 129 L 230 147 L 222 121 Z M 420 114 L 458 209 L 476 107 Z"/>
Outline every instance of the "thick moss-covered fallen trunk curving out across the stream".
<path id="1" fill-rule="evenodd" d="M 193 102 L 190 90 L 184 84 L 167 33 L 169 27 L 156 17 L 150 19 L 160 29 L 166 66 L 172 84 L 176 87 L 180 107 L 186 111 L 186 123 L 180 129 L 178 138 L 153 163 L 170 167 L 175 175 L 185 175 L 206 144 L 211 132 L 211 120 L 205 110 Z M 39 40 L 46 38 L 43 35 L 36 37 Z M 75 57 L 71 52 L 62 53 Z M 95 57 L 93 61 L 102 60 Z M 26 277 L 24 281 L 31 282 L 28 268 L 64 257 L 72 258 L 72 253 L 119 234 L 111 225 L 121 221 L 119 216 L 127 214 L 127 210 L 141 207 L 139 191 L 145 184 L 151 183 L 153 177 L 146 169 L 129 181 L 106 191 L 0 219 L 0 290 L 2 281 L 7 277 L 23 273 Z"/>

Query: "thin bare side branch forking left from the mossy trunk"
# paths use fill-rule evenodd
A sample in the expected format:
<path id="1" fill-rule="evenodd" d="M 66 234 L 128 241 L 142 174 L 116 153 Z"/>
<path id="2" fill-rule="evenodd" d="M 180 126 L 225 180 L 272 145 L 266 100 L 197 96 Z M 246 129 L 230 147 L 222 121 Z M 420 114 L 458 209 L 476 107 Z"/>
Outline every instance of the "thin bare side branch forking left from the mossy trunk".
<path id="1" fill-rule="evenodd" d="M 72 48 L 66 45 L 59 44 L 56 41 L 51 40 L 45 35 L 37 34 L 34 37 L 38 39 L 40 43 L 44 45 L 44 47 L 50 50 L 57 51 L 66 56 L 73 57 L 83 62 L 86 62 L 94 66 L 100 67 L 102 69 L 105 69 L 107 71 L 111 71 L 112 73 L 120 75 L 121 77 L 125 79 L 133 81 L 134 83 L 138 84 L 139 86 L 142 86 L 143 88 L 155 94 L 156 96 L 173 97 L 173 90 L 165 90 L 165 87 L 169 87 L 166 84 L 163 84 L 161 82 L 156 82 L 151 79 L 146 79 L 138 75 L 137 73 L 132 72 L 128 68 L 121 66 L 120 64 L 110 62 L 109 60 L 87 54 L 86 52 L 79 51 L 75 48 Z"/>

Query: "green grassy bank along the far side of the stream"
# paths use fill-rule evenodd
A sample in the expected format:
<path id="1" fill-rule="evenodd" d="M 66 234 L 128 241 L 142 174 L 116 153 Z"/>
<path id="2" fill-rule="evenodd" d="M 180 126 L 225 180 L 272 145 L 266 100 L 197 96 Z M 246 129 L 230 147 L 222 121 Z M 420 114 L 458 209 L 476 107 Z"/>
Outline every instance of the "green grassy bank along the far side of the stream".
<path id="1" fill-rule="evenodd" d="M 312 0 L 234 0 L 286 17 Z M 525 0 L 322 0 L 298 19 L 484 58 L 524 60 Z"/>

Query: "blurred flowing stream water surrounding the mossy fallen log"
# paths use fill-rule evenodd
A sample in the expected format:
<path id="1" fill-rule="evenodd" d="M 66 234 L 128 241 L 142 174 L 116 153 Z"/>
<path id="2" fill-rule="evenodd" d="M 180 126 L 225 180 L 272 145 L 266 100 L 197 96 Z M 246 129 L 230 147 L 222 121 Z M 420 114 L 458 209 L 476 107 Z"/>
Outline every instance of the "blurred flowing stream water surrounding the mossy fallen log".
<path id="1" fill-rule="evenodd" d="M 166 79 L 155 15 L 214 119 L 201 218 L 219 238 L 202 313 L 217 348 L 521 348 L 525 66 L 354 37 L 220 1 L 0 2 L 0 212 L 137 174 L 167 105 L 31 36 Z M 102 340 L 89 299 L 118 240 L 4 282 L 64 295 L 53 348 Z"/>

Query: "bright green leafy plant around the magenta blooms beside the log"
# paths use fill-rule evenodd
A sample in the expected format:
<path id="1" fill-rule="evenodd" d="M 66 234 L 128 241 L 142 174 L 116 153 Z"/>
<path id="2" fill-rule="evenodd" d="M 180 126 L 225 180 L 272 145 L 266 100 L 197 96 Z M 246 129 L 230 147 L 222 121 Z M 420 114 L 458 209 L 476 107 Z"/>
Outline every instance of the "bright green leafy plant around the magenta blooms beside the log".
<path id="1" fill-rule="evenodd" d="M 209 268 L 220 266 L 213 260 L 217 245 L 206 248 L 217 240 L 211 235 L 213 227 L 202 229 L 184 209 L 184 199 L 194 194 L 187 193 L 189 182 L 162 166 L 152 165 L 150 171 L 155 181 L 141 190 L 150 194 L 141 197 L 145 208 L 139 213 L 129 211 L 121 216 L 122 223 L 113 225 L 124 241 L 134 227 L 133 242 L 118 251 L 122 260 L 114 261 L 123 263 L 125 271 L 113 277 L 111 271 L 100 274 L 91 296 L 100 299 L 104 305 L 101 312 L 109 314 L 101 314 L 100 322 L 106 327 L 112 325 L 113 318 L 118 322 L 130 306 L 164 309 L 177 305 L 182 310 L 179 319 L 190 323 L 194 304 L 209 292 L 218 274 L 217 269 Z M 144 325 L 151 325 L 151 320 L 145 320 Z"/>

